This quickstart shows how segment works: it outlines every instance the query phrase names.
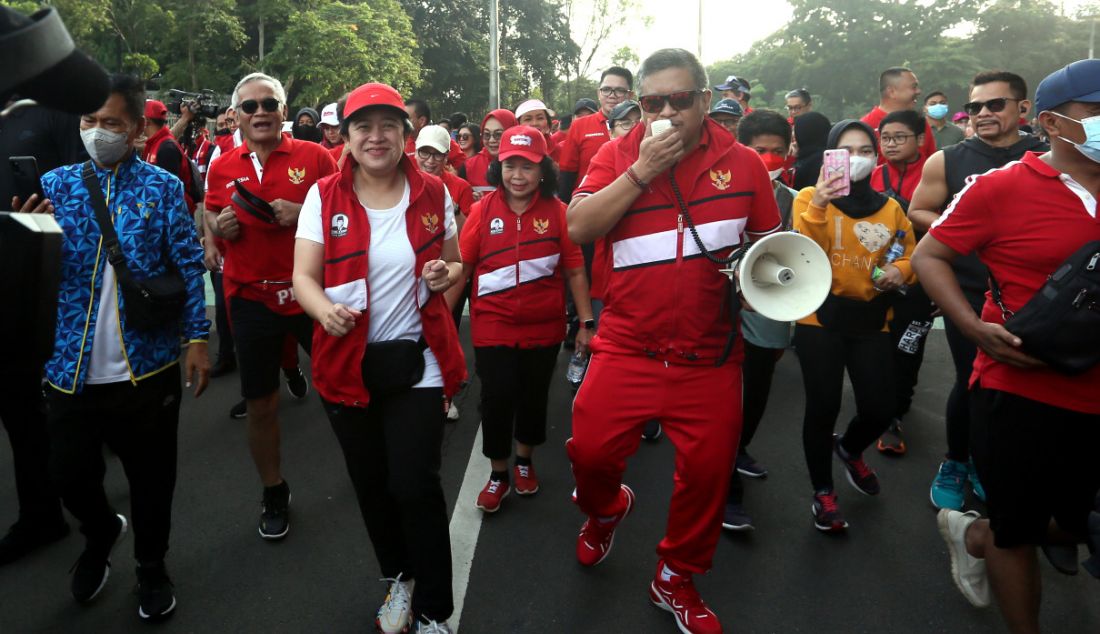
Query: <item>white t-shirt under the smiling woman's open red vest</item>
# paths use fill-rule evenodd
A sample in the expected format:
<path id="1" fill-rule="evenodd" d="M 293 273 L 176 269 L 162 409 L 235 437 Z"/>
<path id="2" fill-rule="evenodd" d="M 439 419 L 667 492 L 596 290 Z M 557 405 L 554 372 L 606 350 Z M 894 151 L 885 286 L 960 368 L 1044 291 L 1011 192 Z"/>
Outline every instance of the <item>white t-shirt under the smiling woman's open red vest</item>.
<path id="1" fill-rule="evenodd" d="M 444 215 L 443 215 L 443 238 L 450 240 L 458 234 L 458 225 L 454 222 L 454 203 L 451 195 L 444 193 Z M 369 292 L 356 295 L 360 306 L 355 300 L 348 300 L 346 297 L 337 297 L 330 291 L 326 294 L 330 299 L 342 304 L 348 304 L 353 308 L 360 308 L 366 303 L 366 297 L 371 298 L 371 323 L 367 329 L 367 341 L 391 341 L 393 339 L 417 340 L 424 332 L 420 325 L 420 310 L 416 303 L 416 285 L 414 284 L 414 269 L 416 267 L 416 253 L 413 251 L 413 243 L 409 242 L 408 230 L 405 227 L 405 211 L 409 206 L 409 185 L 406 181 L 405 193 L 396 207 L 391 209 L 369 209 L 360 206 L 366 214 L 366 219 L 371 223 L 371 245 L 367 250 L 367 280 Z M 361 217 L 362 218 L 362 217 Z M 337 220 L 337 218 L 333 218 Z M 298 231 L 296 238 L 324 244 L 326 238 L 333 237 L 343 230 L 346 225 L 359 219 L 352 217 L 342 220 L 342 225 L 328 229 L 321 223 L 321 195 L 317 185 L 309 188 L 306 200 L 301 205 L 301 214 L 298 216 Z M 365 289 L 364 289 L 365 291 Z M 431 350 L 424 351 L 424 379 L 414 387 L 442 387 L 443 375 L 439 370 L 439 362 Z"/>

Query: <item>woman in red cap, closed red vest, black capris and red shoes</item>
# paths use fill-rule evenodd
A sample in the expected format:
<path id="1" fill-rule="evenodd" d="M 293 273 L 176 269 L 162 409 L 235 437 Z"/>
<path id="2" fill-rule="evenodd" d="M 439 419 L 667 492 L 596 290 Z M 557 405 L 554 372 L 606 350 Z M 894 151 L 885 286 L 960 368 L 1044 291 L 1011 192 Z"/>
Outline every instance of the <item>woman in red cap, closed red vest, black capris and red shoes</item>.
<path id="1" fill-rule="evenodd" d="M 473 277 L 470 328 L 482 382 L 482 451 L 492 473 L 477 507 L 493 513 L 512 485 L 539 490 L 531 452 L 546 441 L 547 396 L 565 338 L 565 284 L 585 328 L 576 349 L 587 350 L 595 329 L 581 249 L 569 239 L 565 206 L 554 197 L 558 171 L 546 139 L 529 125 L 505 131 L 488 166 L 497 187 L 474 204 L 462 228 L 462 266 Z"/>

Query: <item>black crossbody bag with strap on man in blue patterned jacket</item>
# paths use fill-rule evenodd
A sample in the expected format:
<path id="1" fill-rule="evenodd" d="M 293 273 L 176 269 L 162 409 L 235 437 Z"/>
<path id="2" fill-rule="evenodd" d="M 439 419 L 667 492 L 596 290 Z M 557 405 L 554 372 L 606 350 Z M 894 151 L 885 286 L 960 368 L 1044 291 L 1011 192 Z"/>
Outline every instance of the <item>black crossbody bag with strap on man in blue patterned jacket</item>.
<path id="1" fill-rule="evenodd" d="M 156 330 L 178 320 L 183 315 L 184 305 L 187 304 L 187 285 L 184 283 L 184 277 L 169 262 L 168 271 L 164 275 L 135 280 L 130 266 L 127 265 L 125 255 L 122 254 L 119 234 L 114 232 L 114 223 L 107 210 L 107 200 L 99 188 L 99 178 L 96 177 L 91 161 L 84 164 L 82 176 L 84 185 L 91 198 L 91 206 L 96 211 L 96 222 L 99 225 L 100 233 L 103 234 L 107 261 L 114 267 L 119 289 L 125 299 L 127 326 L 139 330 Z"/>

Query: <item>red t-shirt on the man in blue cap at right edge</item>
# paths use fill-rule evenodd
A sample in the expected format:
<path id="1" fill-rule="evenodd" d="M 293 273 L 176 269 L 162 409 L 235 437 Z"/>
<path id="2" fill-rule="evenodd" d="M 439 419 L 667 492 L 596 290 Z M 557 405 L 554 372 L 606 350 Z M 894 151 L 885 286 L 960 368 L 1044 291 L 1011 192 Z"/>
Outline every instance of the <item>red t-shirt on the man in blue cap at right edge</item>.
<path id="1" fill-rule="evenodd" d="M 1097 201 L 1037 153 L 970 181 L 932 225 L 931 236 L 958 253 L 977 251 L 1001 285 L 1004 305 L 1019 310 L 1075 251 L 1100 240 Z M 1004 324 L 986 293 L 982 321 Z M 1064 409 L 1100 414 L 1100 365 L 1076 376 L 1024 370 L 981 349 L 970 383 Z"/>

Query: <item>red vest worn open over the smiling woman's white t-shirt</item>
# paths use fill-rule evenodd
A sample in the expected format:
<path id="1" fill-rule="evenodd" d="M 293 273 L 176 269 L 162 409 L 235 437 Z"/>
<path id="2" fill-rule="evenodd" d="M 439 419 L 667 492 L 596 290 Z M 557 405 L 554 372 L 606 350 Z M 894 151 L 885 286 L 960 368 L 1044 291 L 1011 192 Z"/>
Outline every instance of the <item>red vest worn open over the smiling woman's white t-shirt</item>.
<path id="1" fill-rule="evenodd" d="M 342 171 L 317 182 L 321 195 L 321 227 L 330 228 L 324 241 L 321 286 L 330 297 L 359 297 L 360 305 L 365 304 L 366 308 L 352 331 L 343 337 L 333 337 L 320 324 L 314 324 L 312 369 L 314 384 L 326 401 L 365 407 L 371 396 L 363 386 L 361 363 L 371 318 L 367 285 L 371 223 L 353 188 L 354 167 L 355 162 L 348 161 Z M 416 286 L 424 337 L 443 374 L 443 393 L 451 396 L 466 380 L 465 357 L 443 295 L 429 292 L 420 277 L 425 263 L 439 259 L 443 250 L 443 183 L 421 173 L 408 157 L 402 157 L 399 167 L 409 183 L 405 226 L 416 253 L 409 284 Z M 342 221 L 336 221 L 341 215 Z M 354 302 L 341 303 L 354 306 Z"/>

